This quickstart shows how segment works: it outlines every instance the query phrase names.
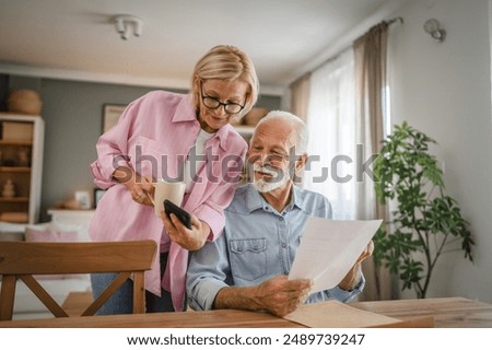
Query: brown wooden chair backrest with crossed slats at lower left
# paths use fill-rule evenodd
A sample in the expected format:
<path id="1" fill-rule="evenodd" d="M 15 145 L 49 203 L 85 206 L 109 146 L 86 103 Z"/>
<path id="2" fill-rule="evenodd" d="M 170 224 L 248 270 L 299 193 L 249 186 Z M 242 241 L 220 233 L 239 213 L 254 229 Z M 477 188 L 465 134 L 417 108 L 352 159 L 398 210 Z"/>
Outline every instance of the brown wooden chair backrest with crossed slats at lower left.
<path id="1" fill-rule="evenodd" d="M 94 315 L 128 278 L 133 277 L 133 313 L 144 313 L 144 271 L 151 269 L 156 249 L 154 241 L 1 242 L 0 320 L 12 319 L 17 278 L 56 317 L 69 316 L 33 275 L 119 272 L 82 316 Z"/>

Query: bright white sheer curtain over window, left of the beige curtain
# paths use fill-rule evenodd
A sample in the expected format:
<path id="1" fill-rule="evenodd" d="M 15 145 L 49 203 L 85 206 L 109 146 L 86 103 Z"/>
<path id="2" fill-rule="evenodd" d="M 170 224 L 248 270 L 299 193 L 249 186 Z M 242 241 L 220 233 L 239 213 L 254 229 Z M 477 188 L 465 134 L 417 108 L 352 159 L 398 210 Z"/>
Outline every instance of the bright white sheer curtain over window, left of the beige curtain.
<path id="1" fill-rule="evenodd" d="M 328 197 L 335 219 L 355 219 L 355 84 L 350 48 L 311 75 L 309 162 L 303 186 Z"/>

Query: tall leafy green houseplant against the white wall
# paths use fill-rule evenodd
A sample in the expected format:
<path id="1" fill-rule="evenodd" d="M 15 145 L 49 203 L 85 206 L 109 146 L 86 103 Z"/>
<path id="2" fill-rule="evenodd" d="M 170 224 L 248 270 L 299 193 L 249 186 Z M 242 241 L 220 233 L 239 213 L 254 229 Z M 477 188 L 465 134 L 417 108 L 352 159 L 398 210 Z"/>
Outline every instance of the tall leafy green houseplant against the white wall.
<path id="1" fill-rule="evenodd" d="M 475 244 L 458 203 L 445 192 L 443 172 L 429 151 L 430 143 L 436 142 L 403 122 L 383 141 L 374 164 L 378 201 L 396 201 L 391 221 L 374 237 L 374 260 L 398 275 L 402 290 L 413 289 L 421 299 L 438 257 L 461 249 L 473 262 Z"/>

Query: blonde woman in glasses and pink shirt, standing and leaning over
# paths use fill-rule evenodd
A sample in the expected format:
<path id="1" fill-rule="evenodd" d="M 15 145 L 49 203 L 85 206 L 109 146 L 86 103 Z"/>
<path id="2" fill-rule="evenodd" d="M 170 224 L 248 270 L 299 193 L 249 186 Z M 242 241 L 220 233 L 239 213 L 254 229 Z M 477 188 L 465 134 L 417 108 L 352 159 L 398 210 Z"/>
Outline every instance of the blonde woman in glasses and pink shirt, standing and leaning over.
<path id="1" fill-rule="evenodd" d="M 195 66 L 191 93 L 154 91 L 132 102 L 118 124 L 101 136 L 91 164 L 95 184 L 107 189 L 89 234 L 93 241 L 154 240 L 160 259 L 145 273 L 147 312 L 183 311 L 188 250 L 218 237 L 231 202 L 247 144 L 230 125 L 258 97 L 258 78 L 248 56 L 216 46 Z M 191 229 L 155 217 L 152 183 L 183 179 L 181 207 Z M 114 279 L 91 276 L 94 296 Z M 132 312 L 128 280 L 99 314 Z"/>

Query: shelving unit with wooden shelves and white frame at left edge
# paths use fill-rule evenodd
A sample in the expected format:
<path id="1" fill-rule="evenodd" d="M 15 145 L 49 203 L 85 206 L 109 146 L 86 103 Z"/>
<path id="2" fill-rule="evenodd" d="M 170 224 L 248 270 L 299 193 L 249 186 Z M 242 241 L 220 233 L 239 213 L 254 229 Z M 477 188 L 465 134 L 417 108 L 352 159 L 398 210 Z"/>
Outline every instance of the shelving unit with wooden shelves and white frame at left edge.
<path id="1" fill-rule="evenodd" d="M 0 113 L 0 221 L 36 223 L 43 175 L 44 120 Z M 14 196 L 4 194 L 14 185 Z M 24 219 L 25 218 L 25 219 Z"/>

